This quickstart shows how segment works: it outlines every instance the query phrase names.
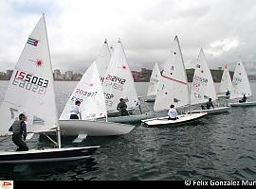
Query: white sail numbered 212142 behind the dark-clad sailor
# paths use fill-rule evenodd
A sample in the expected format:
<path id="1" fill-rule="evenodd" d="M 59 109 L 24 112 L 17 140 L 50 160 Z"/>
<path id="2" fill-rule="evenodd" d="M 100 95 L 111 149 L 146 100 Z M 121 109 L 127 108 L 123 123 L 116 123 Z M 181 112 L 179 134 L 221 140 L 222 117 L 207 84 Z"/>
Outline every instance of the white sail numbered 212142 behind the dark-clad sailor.
<path id="1" fill-rule="evenodd" d="M 126 101 L 128 108 L 136 107 L 137 92 L 134 78 L 120 41 L 111 57 L 102 86 L 107 111 L 117 110 L 119 98 Z"/>

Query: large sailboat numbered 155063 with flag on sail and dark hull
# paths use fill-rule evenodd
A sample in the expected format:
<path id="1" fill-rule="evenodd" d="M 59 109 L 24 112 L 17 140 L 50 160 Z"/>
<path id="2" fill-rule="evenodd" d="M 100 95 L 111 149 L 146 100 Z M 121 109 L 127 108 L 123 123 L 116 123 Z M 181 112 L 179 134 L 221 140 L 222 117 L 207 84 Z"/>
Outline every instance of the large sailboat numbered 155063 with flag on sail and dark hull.
<path id="1" fill-rule="evenodd" d="M 45 14 L 27 39 L 27 43 L 9 81 L 0 107 L 0 135 L 9 136 L 9 127 L 21 112 L 27 115 L 27 132 L 57 129 L 58 148 L 28 151 L 1 151 L 0 163 L 38 163 L 69 161 L 90 157 L 100 146 L 61 148 L 57 119 Z M 27 137 L 28 139 L 28 137 Z"/>

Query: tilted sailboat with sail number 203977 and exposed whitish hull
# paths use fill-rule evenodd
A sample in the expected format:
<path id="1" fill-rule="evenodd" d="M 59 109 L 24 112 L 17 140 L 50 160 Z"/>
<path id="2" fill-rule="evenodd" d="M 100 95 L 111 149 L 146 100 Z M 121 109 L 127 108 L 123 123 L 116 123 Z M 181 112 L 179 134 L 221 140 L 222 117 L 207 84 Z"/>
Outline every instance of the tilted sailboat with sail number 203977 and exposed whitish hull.
<path id="1" fill-rule="evenodd" d="M 69 119 L 71 107 L 75 101 L 81 101 L 82 120 Z M 75 142 L 82 142 L 86 136 L 108 136 L 127 134 L 135 126 L 99 121 L 96 119 L 106 117 L 106 106 L 101 86 L 99 71 L 94 61 L 83 74 L 73 93 L 67 100 L 64 111 L 60 116 L 60 127 L 64 135 L 78 135 Z"/>

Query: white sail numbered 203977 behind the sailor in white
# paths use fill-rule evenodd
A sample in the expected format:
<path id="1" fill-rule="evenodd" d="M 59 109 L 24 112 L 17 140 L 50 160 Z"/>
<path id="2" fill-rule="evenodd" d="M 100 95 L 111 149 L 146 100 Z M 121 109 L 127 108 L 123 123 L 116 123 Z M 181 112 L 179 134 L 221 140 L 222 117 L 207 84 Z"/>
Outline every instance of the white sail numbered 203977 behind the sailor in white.
<path id="1" fill-rule="evenodd" d="M 69 119 L 71 107 L 77 100 L 81 101 L 82 120 L 99 118 L 106 115 L 101 79 L 95 61 L 83 74 L 82 79 L 70 95 L 60 120 Z"/>

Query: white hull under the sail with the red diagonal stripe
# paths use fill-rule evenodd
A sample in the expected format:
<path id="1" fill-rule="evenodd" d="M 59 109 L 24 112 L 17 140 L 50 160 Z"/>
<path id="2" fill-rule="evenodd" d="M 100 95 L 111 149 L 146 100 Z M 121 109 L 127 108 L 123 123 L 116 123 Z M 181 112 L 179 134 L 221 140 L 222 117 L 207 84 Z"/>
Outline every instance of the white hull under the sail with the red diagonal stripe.
<path id="1" fill-rule="evenodd" d="M 204 117 L 205 115 L 207 115 L 207 112 L 178 115 L 177 116 L 178 119 L 176 120 L 168 120 L 168 117 L 165 116 L 165 117 L 159 117 L 155 119 L 142 120 L 142 122 L 147 127 L 157 127 L 157 126 L 171 127 L 171 126 L 181 125 L 181 124 L 195 121 L 197 119 Z"/>

